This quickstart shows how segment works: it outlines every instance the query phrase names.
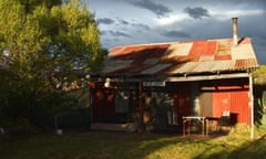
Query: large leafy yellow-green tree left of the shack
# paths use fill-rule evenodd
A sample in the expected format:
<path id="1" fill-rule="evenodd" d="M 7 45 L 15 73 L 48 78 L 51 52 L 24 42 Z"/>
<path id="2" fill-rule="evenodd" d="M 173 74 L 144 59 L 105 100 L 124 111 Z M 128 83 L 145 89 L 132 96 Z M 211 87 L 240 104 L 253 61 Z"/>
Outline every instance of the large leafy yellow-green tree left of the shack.
<path id="1" fill-rule="evenodd" d="M 63 93 L 54 77 L 75 78 L 74 70 L 101 72 L 100 31 L 80 0 L 1 0 L 0 15 L 0 109 L 6 116 L 29 118 L 47 105 L 57 109 Z"/>

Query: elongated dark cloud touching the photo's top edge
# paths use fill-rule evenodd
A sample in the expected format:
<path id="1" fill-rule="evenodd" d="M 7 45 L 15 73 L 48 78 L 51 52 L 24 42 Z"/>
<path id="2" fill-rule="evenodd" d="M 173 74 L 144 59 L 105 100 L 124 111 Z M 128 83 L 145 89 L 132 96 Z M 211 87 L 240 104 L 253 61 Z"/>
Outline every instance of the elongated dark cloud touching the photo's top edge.
<path id="1" fill-rule="evenodd" d="M 152 0 L 131 0 L 129 2 L 135 7 L 150 10 L 151 12 L 155 13 L 158 17 L 163 17 L 172 12 L 170 8 L 167 8 L 166 6 L 155 3 Z"/>

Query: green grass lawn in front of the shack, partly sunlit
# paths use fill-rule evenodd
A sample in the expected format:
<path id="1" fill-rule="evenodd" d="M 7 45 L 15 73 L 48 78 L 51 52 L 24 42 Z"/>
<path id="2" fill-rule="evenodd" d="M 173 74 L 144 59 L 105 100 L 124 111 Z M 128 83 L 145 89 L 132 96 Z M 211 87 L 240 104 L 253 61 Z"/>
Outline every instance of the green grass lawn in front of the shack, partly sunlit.
<path id="1" fill-rule="evenodd" d="M 75 131 L 0 137 L 1 159 L 266 159 L 264 130 L 203 138 L 181 135 Z"/>

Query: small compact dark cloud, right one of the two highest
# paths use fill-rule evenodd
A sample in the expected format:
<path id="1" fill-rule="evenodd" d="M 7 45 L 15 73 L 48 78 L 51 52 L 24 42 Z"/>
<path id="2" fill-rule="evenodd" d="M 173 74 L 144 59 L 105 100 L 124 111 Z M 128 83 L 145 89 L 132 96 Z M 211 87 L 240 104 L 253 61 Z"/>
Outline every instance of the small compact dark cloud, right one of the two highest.
<path id="1" fill-rule="evenodd" d="M 208 11 L 202 7 L 197 8 L 185 8 L 184 12 L 186 12 L 190 17 L 194 19 L 202 19 L 203 17 L 209 17 Z"/>

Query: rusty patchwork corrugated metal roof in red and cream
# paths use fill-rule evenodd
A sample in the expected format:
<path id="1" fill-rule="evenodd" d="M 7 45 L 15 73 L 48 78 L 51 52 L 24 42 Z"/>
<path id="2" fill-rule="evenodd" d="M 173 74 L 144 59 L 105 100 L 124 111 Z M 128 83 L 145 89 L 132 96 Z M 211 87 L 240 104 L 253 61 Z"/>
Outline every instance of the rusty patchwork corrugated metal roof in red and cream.
<path id="1" fill-rule="evenodd" d="M 193 74 L 257 67 L 249 38 L 116 46 L 105 61 L 106 75 Z"/>

